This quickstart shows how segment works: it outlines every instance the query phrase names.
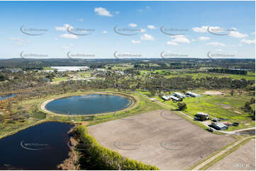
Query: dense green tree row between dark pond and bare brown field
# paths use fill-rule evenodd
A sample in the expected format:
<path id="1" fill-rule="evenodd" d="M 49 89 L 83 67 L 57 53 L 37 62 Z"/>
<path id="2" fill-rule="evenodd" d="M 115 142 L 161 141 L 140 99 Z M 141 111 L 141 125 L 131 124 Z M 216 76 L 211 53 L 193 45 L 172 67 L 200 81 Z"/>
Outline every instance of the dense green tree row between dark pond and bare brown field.
<path id="1" fill-rule="evenodd" d="M 102 147 L 88 134 L 86 126 L 77 126 L 74 133 L 80 141 L 77 148 L 84 149 L 79 151 L 82 155 L 79 160 L 82 170 L 159 170 L 155 166 L 125 158 L 116 151 Z"/>

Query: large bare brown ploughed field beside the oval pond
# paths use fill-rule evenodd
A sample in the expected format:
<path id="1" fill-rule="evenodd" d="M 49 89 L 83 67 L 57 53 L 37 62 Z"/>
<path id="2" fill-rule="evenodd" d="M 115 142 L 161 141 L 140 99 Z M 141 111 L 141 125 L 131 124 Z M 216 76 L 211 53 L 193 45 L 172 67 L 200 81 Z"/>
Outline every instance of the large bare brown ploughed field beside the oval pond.
<path id="1" fill-rule="evenodd" d="M 161 170 L 187 170 L 229 143 L 230 136 L 211 134 L 169 110 L 89 126 L 102 146 Z"/>

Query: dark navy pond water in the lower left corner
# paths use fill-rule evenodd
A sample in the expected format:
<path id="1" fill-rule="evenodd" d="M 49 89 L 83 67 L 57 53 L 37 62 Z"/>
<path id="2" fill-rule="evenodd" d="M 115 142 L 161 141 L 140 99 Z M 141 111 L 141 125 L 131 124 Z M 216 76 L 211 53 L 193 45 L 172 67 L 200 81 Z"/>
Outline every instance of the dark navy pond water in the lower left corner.
<path id="1" fill-rule="evenodd" d="M 45 122 L 0 139 L 0 170 L 56 170 L 68 158 L 71 124 Z"/>

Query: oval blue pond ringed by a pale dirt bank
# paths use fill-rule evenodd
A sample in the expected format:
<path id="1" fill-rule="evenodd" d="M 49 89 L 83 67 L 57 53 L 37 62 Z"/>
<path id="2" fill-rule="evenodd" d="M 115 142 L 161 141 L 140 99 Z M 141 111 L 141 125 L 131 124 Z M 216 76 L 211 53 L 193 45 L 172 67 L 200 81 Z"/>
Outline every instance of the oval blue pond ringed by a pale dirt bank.
<path id="1" fill-rule="evenodd" d="M 45 108 L 58 114 L 99 114 L 123 110 L 131 100 L 119 95 L 80 95 L 49 102 Z"/>

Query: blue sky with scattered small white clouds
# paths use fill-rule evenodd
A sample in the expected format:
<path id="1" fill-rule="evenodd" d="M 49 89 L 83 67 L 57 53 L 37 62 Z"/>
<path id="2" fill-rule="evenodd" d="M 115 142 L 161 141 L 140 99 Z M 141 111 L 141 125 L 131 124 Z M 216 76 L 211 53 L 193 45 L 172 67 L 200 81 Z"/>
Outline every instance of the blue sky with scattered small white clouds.
<path id="1" fill-rule="evenodd" d="M 0 1 L 0 59 L 255 59 L 255 1 Z"/>

